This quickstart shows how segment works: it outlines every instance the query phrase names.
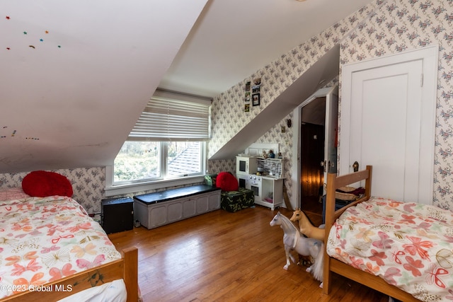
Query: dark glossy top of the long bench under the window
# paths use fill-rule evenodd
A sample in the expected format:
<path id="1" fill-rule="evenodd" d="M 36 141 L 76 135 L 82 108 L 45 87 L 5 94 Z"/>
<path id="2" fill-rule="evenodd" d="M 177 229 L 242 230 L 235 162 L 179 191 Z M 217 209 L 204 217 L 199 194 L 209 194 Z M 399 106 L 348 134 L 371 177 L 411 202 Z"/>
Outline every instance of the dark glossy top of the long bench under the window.
<path id="1" fill-rule="evenodd" d="M 220 190 L 220 188 L 212 187 L 210 185 L 192 185 L 190 187 L 179 187 L 178 189 L 136 195 L 134 196 L 134 200 L 143 202 L 144 204 L 157 204 L 159 202 L 168 202 L 169 200 L 178 199 L 181 197 L 189 197 L 196 194 L 207 193 L 216 190 Z"/>

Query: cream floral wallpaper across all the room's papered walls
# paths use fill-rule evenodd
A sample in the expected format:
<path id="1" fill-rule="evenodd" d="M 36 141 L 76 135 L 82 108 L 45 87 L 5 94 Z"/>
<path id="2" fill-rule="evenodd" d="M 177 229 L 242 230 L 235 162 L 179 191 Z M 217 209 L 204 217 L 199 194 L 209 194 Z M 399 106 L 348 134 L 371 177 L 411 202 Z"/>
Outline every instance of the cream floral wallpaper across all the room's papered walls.
<path id="1" fill-rule="evenodd" d="M 294 32 L 297 34 L 297 32 Z M 340 44 L 340 68 L 383 55 L 413 50 L 432 44 L 440 46 L 437 83 L 435 141 L 435 194 L 433 203 L 453 209 L 453 0 L 376 0 L 348 18 L 323 30 L 274 62 L 214 98 L 212 140 L 208 156 L 218 151 L 261 110 L 334 45 Z M 247 81 L 262 79 L 260 106 L 243 110 L 243 87 Z M 341 79 L 339 78 L 340 95 Z M 228 117 L 228 118 L 225 118 Z M 288 115 L 258 139 L 258 143 L 278 143 L 285 154 L 285 185 L 292 191 L 292 132 L 281 133 Z M 339 134 L 341 139 L 341 132 Z M 208 173 L 234 172 L 235 159 L 209 161 Z M 105 168 L 56 170 L 66 175 L 74 188 L 74 199 L 90 213 L 101 211 Z M 18 186 L 26 173 L 0 174 L 0 187 Z M 142 194 L 137 192 L 136 194 Z M 290 197 L 291 198 L 291 197 Z"/>

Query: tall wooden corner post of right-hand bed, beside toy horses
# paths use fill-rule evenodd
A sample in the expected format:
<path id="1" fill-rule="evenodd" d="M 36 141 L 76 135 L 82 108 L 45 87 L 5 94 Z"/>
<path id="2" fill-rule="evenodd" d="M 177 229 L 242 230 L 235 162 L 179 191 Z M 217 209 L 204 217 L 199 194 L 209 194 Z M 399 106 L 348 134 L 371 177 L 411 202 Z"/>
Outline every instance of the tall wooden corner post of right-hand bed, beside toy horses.
<path id="1" fill-rule="evenodd" d="M 323 267 L 323 293 L 329 294 L 331 291 L 331 272 L 329 270 L 331 257 L 327 255 L 327 239 L 328 233 L 333 225 L 333 215 L 335 213 L 335 191 L 336 191 L 336 173 L 328 173 L 327 175 L 327 191 L 326 191 L 326 236 L 324 236 L 324 267 Z"/>

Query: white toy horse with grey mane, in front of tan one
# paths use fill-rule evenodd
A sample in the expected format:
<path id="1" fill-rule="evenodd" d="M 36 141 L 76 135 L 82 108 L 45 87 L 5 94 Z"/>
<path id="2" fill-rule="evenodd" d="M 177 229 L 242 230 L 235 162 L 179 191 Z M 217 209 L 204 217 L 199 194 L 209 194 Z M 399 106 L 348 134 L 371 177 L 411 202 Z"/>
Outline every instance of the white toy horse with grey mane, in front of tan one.
<path id="1" fill-rule="evenodd" d="M 295 250 L 303 256 L 313 257 L 314 265 L 307 268 L 306 272 L 311 272 L 316 280 L 321 281 L 320 287 L 322 288 L 324 243 L 321 240 L 302 236 L 296 226 L 285 215 L 280 214 L 280 212 L 274 216 L 269 224 L 270 226 L 280 226 L 284 232 L 283 244 L 285 245 L 286 265 L 283 268 L 288 269 L 291 264 L 289 258 L 295 263 L 294 257 L 291 255 L 291 250 Z"/>

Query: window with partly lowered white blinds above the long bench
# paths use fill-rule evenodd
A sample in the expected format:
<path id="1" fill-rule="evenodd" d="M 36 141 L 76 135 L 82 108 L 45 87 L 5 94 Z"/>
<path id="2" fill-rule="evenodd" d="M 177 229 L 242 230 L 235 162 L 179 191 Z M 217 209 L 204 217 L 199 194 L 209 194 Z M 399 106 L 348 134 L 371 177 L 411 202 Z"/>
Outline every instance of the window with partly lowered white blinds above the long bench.
<path id="1" fill-rule="evenodd" d="M 210 100 L 157 90 L 115 158 L 113 185 L 203 175 Z"/>

